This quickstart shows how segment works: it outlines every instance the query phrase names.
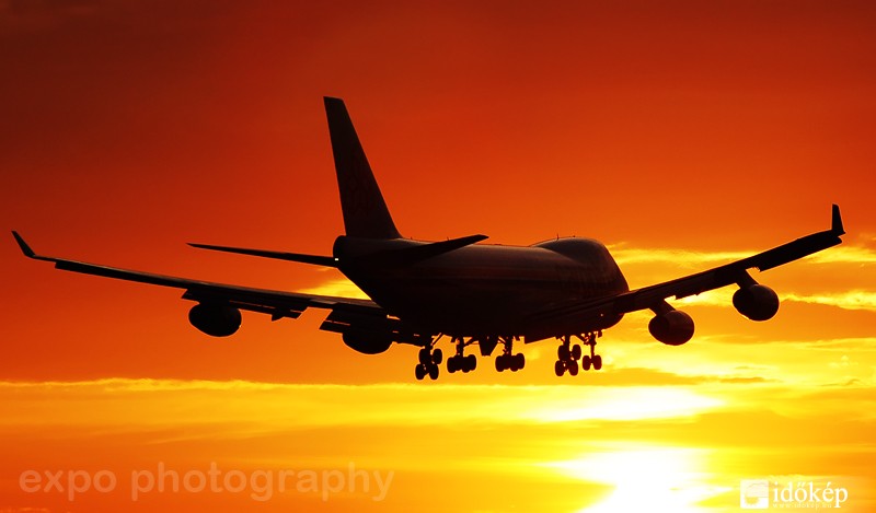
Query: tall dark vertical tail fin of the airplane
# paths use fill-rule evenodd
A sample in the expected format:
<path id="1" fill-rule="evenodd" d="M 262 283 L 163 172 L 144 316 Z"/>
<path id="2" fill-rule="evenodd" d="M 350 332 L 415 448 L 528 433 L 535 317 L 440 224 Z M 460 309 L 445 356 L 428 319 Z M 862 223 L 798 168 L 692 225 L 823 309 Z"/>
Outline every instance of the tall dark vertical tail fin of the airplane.
<path id="1" fill-rule="evenodd" d="M 331 97 L 324 100 L 347 235 L 400 238 L 344 101 Z"/>

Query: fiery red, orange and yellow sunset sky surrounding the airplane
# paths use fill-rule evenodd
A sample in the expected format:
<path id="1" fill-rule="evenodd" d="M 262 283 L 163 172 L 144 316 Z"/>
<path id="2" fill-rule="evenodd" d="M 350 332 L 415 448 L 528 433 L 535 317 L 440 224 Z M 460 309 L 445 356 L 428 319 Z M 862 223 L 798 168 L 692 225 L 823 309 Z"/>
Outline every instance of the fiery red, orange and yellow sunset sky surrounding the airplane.
<path id="1" fill-rule="evenodd" d="M 185 245 L 330 254 L 324 95 L 407 237 L 595 237 L 644 287 L 826 230 L 831 203 L 848 232 L 754 273 L 770 322 L 728 288 L 676 302 L 682 347 L 636 313 L 598 373 L 557 378 L 548 340 L 437 382 L 316 311 L 211 339 L 180 291 L 9 235 L 0 512 L 736 512 L 742 480 L 876 509 L 872 2 L 5 0 L 0 75 L 0 220 L 48 255 L 357 294 Z"/>

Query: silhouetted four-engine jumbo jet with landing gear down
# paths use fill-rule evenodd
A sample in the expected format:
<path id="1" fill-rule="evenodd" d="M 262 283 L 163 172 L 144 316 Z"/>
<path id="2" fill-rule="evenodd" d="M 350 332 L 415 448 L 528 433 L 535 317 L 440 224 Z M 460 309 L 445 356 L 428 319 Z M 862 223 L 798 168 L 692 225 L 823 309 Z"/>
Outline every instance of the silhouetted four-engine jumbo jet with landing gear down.
<path id="1" fill-rule="evenodd" d="M 830 230 L 811 233 L 757 255 L 694 275 L 630 290 L 609 249 L 591 238 L 555 238 L 531 246 L 477 244 L 475 234 L 440 242 L 404 238 L 395 228 L 383 195 L 362 150 L 346 105 L 325 97 L 345 234 L 331 256 L 193 244 L 215 252 L 288 260 L 338 269 L 370 300 L 254 289 L 43 256 L 12 232 L 22 253 L 57 269 L 182 289 L 194 301 L 188 320 L 212 337 L 228 337 L 241 326 L 241 311 L 270 315 L 272 320 L 298 318 L 308 308 L 327 310 L 320 329 L 341 335 L 349 348 L 366 354 L 393 343 L 419 347 L 414 375 L 436 380 L 443 354 L 436 345 L 450 339 L 449 373 L 475 370 L 476 346 L 491 357 L 498 346 L 496 371 L 526 365 L 515 342 L 560 341 L 554 371 L 574 376 L 602 369 L 597 338 L 624 314 L 650 310 L 650 335 L 668 346 L 693 337 L 694 323 L 668 299 L 681 299 L 737 285 L 734 307 L 752 320 L 768 320 L 779 310 L 779 296 L 749 273 L 765 271 L 842 243 L 840 208 L 832 207 Z M 578 343 L 580 341 L 580 343 Z M 574 342 L 574 343 L 573 343 Z M 581 347 L 588 349 L 585 352 Z"/>

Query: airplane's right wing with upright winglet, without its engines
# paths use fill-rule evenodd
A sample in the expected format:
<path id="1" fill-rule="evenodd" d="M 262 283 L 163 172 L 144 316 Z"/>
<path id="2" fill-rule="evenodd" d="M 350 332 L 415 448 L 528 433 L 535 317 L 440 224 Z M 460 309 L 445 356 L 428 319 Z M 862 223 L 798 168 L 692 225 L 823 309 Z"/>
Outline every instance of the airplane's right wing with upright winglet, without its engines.
<path id="1" fill-rule="evenodd" d="M 668 307 L 666 300 L 669 298 L 688 298 L 734 283 L 740 287 L 753 284 L 756 281 L 748 273 L 749 269 L 757 268 L 759 271 L 765 271 L 842 243 L 840 236 L 845 231 L 842 225 L 839 206 L 834 205 L 831 213 L 830 230 L 812 233 L 748 258 L 664 283 L 632 290 L 619 295 L 566 305 L 554 305 L 535 314 L 532 319 L 540 326 L 550 326 L 551 322 L 562 325 L 567 319 L 585 322 L 586 319 L 648 308 L 657 313 Z M 562 334 L 552 334 L 548 333 L 548 330 L 532 333 L 527 336 L 527 341 L 535 341 L 558 335 Z"/>

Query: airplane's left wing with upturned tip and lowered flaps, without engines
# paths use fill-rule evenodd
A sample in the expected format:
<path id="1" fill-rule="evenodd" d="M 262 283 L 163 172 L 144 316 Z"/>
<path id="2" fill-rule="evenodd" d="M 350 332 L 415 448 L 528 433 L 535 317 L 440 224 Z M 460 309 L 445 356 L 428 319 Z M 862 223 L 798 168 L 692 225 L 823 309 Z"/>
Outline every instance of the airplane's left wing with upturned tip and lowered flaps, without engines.
<path id="1" fill-rule="evenodd" d="M 325 331 L 345 333 L 354 328 L 357 333 L 391 334 L 394 341 L 415 345 L 420 345 L 425 336 L 407 329 L 401 320 L 389 316 L 385 310 L 370 300 L 254 289 L 43 256 L 37 255 L 18 232 L 13 231 L 12 235 L 24 256 L 54 263 L 56 269 L 182 289 L 185 300 L 268 314 L 273 320 L 298 318 L 309 307 L 331 310 L 332 313 L 320 326 Z"/>

